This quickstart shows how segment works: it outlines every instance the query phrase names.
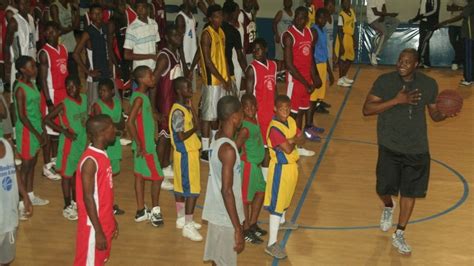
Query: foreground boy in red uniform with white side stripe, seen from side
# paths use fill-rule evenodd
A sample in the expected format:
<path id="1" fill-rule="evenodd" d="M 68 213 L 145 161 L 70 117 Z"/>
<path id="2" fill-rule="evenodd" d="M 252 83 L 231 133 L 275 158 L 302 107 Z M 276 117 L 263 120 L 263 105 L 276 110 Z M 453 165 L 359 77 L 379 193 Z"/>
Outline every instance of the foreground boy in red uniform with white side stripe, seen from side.
<path id="1" fill-rule="evenodd" d="M 79 220 L 75 266 L 104 265 L 112 238 L 118 236 L 112 167 L 105 152 L 115 142 L 115 126 L 108 115 L 100 114 L 87 121 L 86 129 L 92 145 L 82 154 L 76 173 Z"/>

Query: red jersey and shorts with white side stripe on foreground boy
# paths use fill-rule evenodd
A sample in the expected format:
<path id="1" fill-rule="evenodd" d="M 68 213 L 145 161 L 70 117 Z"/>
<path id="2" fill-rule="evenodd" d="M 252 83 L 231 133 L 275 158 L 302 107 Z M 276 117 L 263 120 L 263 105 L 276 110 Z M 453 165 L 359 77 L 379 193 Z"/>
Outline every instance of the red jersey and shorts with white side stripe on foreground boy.
<path id="1" fill-rule="evenodd" d="M 81 168 L 87 159 L 92 159 L 97 168 L 94 182 L 94 201 L 100 225 L 107 239 L 107 250 L 96 249 L 95 230 L 87 216 L 84 204 Z M 74 265 L 103 265 L 109 257 L 112 236 L 115 231 L 114 192 L 110 159 L 105 151 L 89 146 L 82 154 L 78 166 L 76 171 L 78 221 Z"/>

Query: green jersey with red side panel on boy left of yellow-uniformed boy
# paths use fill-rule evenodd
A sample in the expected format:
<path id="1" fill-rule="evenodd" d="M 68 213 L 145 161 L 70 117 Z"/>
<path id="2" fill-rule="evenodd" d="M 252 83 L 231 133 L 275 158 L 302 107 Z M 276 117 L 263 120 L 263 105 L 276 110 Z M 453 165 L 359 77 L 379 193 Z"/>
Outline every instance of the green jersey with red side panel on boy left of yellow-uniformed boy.
<path id="1" fill-rule="evenodd" d="M 142 150 L 146 153 L 156 153 L 155 145 L 155 119 L 153 119 L 153 111 L 151 108 L 150 98 L 147 95 L 135 91 L 132 94 L 132 99 L 130 100 L 133 106 L 133 103 L 136 99 L 142 99 L 142 106 L 138 111 L 137 118 L 134 123 L 137 128 L 137 138 L 140 140 L 143 145 Z M 132 149 L 136 150 L 137 143 L 133 141 Z"/>

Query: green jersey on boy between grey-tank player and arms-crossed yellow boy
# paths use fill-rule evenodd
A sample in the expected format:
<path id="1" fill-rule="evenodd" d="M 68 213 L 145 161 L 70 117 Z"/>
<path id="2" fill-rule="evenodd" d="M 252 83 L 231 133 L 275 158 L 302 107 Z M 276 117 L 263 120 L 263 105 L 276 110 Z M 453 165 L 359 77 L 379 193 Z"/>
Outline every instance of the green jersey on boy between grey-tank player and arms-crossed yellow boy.
<path id="1" fill-rule="evenodd" d="M 249 136 L 242 146 L 240 158 L 243 161 L 250 163 L 261 163 L 265 157 L 265 146 L 263 145 L 263 138 L 259 125 L 244 119 L 242 121 L 242 128 L 246 128 L 249 131 Z"/>

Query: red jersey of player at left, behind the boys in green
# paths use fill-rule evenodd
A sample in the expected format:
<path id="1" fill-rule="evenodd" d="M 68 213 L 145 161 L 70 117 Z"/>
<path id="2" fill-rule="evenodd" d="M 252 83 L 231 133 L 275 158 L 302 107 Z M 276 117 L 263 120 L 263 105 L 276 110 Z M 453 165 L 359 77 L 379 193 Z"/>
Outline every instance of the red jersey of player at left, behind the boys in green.
<path id="1" fill-rule="evenodd" d="M 48 76 L 46 82 L 49 90 L 51 101 L 54 104 L 60 103 L 66 98 L 66 78 L 69 75 L 67 70 L 68 51 L 62 44 L 58 48 L 53 47 L 49 43 L 45 44 L 40 50 L 44 52 L 48 58 Z"/>

